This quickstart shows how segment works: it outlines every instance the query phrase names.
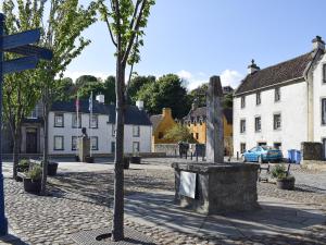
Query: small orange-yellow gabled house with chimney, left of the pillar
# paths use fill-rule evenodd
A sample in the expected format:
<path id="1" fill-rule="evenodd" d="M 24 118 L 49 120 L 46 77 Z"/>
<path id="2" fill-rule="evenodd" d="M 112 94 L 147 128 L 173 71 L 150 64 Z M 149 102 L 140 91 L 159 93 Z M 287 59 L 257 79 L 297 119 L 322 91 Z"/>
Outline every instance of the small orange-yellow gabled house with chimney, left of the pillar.
<path id="1" fill-rule="evenodd" d="M 176 125 L 171 108 L 163 108 L 162 114 L 154 114 L 150 120 L 153 125 L 152 144 L 174 143 L 164 138 L 166 132 Z"/>

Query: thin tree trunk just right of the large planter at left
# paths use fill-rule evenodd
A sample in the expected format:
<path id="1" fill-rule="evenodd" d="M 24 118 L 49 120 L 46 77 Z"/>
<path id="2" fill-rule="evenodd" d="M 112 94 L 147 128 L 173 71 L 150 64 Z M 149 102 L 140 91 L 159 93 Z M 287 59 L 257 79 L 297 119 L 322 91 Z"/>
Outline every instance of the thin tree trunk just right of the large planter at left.
<path id="1" fill-rule="evenodd" d="M 40 195 L 47 194 L 47 177 L 48 177 L 48 162 L 49 162 L 49 147 L 48 147 L 48 137 L 49 137 L 49 105 L 43 102 L 43 125 L 45 125 L 45 137 L 43 137 L 43 164 L 42 164 L 42 180 L 41 180 L 41 192 Z"/>

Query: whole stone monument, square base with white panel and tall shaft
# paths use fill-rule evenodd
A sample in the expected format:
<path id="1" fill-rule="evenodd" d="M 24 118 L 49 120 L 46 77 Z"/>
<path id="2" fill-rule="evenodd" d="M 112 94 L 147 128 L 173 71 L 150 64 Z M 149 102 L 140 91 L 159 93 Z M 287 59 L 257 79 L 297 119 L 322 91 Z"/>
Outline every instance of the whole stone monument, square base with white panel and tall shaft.
<path id="1" fill-rule="evenodd" d="M 174 162 L 175 201 L 201 213 L 251 210 L 259 207 L 259 164 L 224 163 L 222 85 L 210 78 L 206 97 L 206 162 Z"/>

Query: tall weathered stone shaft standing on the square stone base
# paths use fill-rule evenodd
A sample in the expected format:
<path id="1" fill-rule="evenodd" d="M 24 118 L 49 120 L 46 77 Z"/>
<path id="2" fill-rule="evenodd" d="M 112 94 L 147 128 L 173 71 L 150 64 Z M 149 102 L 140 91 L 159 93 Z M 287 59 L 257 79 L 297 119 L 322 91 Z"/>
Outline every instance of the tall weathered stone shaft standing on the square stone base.
<path id="1" fill-rule="evenodd" d="M 222 108 L 222 85 L 220 76 L 210 78 L 206 96 L 206 161 L 223 163 L 224 130 Z"/>

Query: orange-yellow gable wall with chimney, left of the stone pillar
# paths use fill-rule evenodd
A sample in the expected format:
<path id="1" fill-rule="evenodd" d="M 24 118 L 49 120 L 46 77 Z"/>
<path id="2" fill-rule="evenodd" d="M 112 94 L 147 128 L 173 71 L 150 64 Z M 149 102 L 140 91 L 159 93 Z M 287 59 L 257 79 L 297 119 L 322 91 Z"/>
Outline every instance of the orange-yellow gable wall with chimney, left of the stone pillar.
<path id="1" fill-rule="evenodd" d="M 153 144 L 166 144 L 166 143 L 174 143 L 172 140 L 165 138 L 159 138 L 160 132 L 163 133 L 163 137 L 165 136 L 166 132 L 176 125 L 176 122 L 172 118 L 172 112 L 170 108 L 163 108 L 163 118 L 159 123 L 158 127 L 153 132 L 152 142 Z"/>

